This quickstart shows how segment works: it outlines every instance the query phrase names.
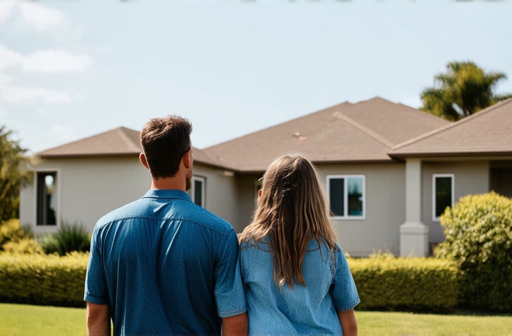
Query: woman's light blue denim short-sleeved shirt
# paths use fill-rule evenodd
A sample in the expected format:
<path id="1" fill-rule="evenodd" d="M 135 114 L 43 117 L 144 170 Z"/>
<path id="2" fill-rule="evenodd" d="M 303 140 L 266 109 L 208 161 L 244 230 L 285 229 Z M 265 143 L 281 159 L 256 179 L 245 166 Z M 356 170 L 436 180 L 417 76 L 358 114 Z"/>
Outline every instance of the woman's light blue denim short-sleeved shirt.
<path id="1" fill-rule="evenodd" d="M 343 251 L 329 251 L 316 240 L 308 245 L 302 274 L 306 287 L 275 286 L 269 239 L 242 242 L 240 263 L 248 306 L 249 334 L 342 334 L 337 312 L 359 304 Z"/>

